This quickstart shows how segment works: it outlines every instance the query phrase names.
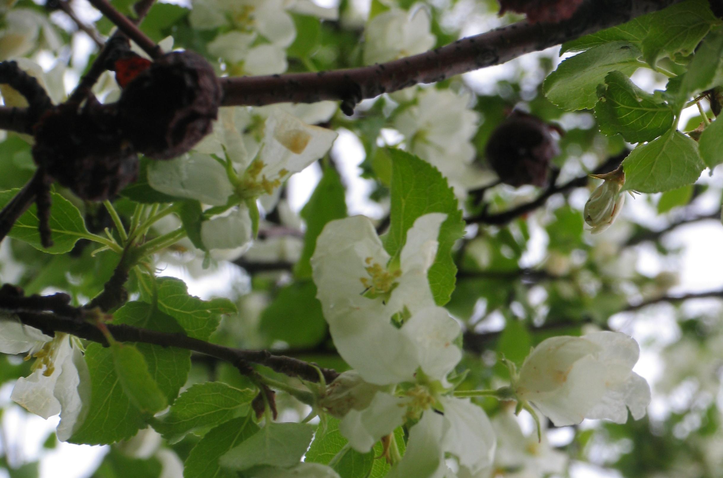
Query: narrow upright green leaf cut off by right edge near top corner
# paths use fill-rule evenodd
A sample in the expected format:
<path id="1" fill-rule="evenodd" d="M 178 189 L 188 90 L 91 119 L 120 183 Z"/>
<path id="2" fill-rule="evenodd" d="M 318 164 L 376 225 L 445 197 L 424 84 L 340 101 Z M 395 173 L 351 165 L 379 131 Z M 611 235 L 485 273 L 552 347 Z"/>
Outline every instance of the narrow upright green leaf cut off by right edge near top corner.
<path id="1" fill-rule="evenodd" d="M 723 34 L 711 32 L 696 50 L 683 77 L 685 95 L 710 90 L 723 82 Z"/>

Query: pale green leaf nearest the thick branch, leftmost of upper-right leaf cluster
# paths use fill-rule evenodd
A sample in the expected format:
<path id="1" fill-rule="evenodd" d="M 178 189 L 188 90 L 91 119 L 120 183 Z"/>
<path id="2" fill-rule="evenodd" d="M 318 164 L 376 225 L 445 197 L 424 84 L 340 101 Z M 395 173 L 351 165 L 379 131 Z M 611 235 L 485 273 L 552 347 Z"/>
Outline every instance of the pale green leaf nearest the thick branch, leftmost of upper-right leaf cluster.
<path id="1" fill-rule="evenodd" d="M 630 76 L 640 67 L 640 50 L 625 41 L 595 46 L 566 59 L 545 78 L 545 96 L 561 108 L 578 110 L 592 108 L 597 101 L 597 85 L 609 72 L 619 71 Z"/>

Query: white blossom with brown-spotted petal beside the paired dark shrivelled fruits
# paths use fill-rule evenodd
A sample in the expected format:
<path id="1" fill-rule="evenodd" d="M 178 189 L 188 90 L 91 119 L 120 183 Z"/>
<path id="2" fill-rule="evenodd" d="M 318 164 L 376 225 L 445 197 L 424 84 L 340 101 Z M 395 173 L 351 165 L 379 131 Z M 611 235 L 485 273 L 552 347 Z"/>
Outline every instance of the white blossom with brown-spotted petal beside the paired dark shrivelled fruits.
<path id="1" fill-rule="evenodd" d="M 309 166 L 331 148 L 337 133 L 315 127 L 281 108 L 268 111 L 260 146 L 248 145 L 241 133 L 254 119 L 247 108 L 223 108 L 213 135 L 194 151 L 171 161 L 154 161 L 148 168 L 148 184 L 175 197 L 205 205 L 234 206 L 201 225 L 202 242 L 208 249 L 248 246 L 252 239 L 249 207 L 258 199 L 278 200 L 278 187 L 288 176 Z M 255 149 L 254 155 L 249 149 Z M 216 158 L 213 157 L 216 156 Z M 221 158 L 228 156 L 230 163 Z M 245 249 L 236 250 L 237 257 Z"/>

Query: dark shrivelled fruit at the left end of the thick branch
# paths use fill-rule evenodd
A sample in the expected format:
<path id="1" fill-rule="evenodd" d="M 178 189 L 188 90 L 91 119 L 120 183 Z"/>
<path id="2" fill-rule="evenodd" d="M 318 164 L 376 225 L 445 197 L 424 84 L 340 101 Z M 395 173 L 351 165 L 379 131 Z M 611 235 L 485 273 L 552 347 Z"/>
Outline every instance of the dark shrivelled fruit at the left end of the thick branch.
<path id="1" fill-rule="evenodd" d="M 221 85 L 208 62 L 192 51 L 174 51 L 126 85 L 118 115 L 136 150 L 169 159 L 208 135 L 219 103 Z"/>

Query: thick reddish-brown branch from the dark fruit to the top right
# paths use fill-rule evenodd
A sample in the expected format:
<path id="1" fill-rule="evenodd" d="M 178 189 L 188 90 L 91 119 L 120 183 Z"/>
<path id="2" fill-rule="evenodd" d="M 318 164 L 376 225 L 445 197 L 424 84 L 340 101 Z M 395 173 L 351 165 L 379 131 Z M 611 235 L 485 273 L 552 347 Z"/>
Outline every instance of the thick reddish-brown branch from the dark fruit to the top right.
<path id="1" fill-rule="evenodd" d="M 463 38 L 442 48 L 370 67 L 332 72 L 274 74 L 221 78 L 223 106 L 262 106 L 272 103 L 316 103 L 341 100 L 351 114 L 364 98 L 433 83 L 455 74 L 505 63 L 531 51 L 620 25 L 654 12 L 675 0 L 594 0 L 583 3 L 570 20 L 556 24 L 518 22 L 481 35 Z"/>

